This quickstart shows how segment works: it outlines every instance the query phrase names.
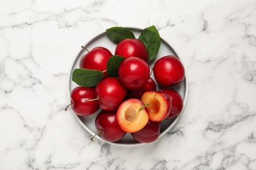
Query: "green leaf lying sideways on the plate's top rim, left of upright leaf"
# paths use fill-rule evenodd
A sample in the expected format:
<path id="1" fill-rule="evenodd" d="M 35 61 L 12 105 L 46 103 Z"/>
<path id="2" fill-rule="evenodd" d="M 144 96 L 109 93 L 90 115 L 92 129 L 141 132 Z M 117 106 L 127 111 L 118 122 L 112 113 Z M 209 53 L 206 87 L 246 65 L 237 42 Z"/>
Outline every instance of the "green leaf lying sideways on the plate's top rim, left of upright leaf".
<path id="1" fill-rule="evenodd" d="M 123 39 L 133 39 L 135 35 L 129 29 L 125 27 L 110 27 L 106 29 L 106 35 L 113 42 L 120 42 Z"/>

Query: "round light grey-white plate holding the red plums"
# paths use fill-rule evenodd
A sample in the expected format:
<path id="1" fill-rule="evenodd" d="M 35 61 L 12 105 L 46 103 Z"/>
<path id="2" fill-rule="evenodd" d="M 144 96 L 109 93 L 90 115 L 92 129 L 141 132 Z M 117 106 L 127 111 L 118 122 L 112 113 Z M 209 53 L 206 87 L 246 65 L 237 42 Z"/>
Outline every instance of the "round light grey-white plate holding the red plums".
<path id="1" fill-rule="evenodd" d="M 128 29 L 133 31 L 133 33 L 135 34 L 135 37 L 137 37 L 137 38 L 139 37 L 139 35 L 142 31 L 142 29 L 137 29 L 137 28 L 128 28 Z M 114 44 L 114 42 L 112 42 L 112 41 L 110 41 L 110 39 L 108 39 L 108 37 L 106 36 L 106 32 L 101 33 L 100 35 L 97 35 L 95 38 L 93 38 L 91 41 L 89 41 L 89 42 L 87 42 L 87 44 L 85 44 L 85 48 L 87 48 L 88 50 L 91 50 L 91 49 L 95 48 L 96 46 L 103 46 L 105 48 L 108 48 L 108 50 L 110 50 L 110 52 L 112 52 L 112 54 L 115 53 L 116 44 Z M 72 92 L 72 90 L 78 86 L 77 84 L 75 84 L 75 82 L 72 81 L 72 73 L 73 73 L 74 69 L 79 68 L 79 61 L 80 61 L 81 57 L 83 55 L 85 55 L 86 53 L 87 53 L 87 51 L 84 50 L 83 48 L 81 48 L 79 54 L 76 56 L 76 58 L 74 59 L 74 62 L 72 63 L 72 67 L 71 67 L 70 73 L 69 73 L 69 91 L 68 91 L 69 96 L 70 96 L 70 93 Z M 152 67 L 154 65 L 154 62 L 157 59 L 159 59 L 163 56 L 167 56 L 167 55 L 173 55 L 173 56 L 176 56 L 177 58 L 181 59 L 180 56 L 178 56 L 177 52 L 175 52 L 175 50 L 173 50 L 173 48 L 167 42 L 165 42 L 163 39 L 161 39 L 160 50 L 158 52 L 158 55 L 156 56 L 156 59 L 152 63 L 150 63 L 150 67 Z M 181 61 L 182 61 L 182 59 L 181 59 Z M 155 80 L 154 74 L 152 74 L 151 77 Z M 157 86 L 157 89 L 160 89 L 160 87 Z M 181 94 L 181 97 L 183 99 L 184 106 L 185 106 L 186 98 L 188 95 L 188 82 L 186 80 L 186 77 L 180 84 L 177 84 L 176 86 L 172 86 L 172 87 L 170 87 L 170 89 L 173 89 L 176 92 L 179 92 Z M 100 112 L 100 110 L 98 110 L 98 112 Z M 83 126 L 87 131 L 89 131 L 89 133 L 91 133 L 91 135 L 95 135 L 95 133 L 97 132 L 97 129 L 95 127 L 95 118 L 96 118 L 96 115 L 98 114 L 98 112 L 96 112 L 95 114 L 90 115 L 90 116 L 77 116 L 74 112 L 73 112 L 73 114 L 74 114 L 75 118 L 77 118 L 77 120 L 81 124 L 81 126 Z M 165 133 L 167 133 L 167 131 L 169 131 L 169 129 L 171 129 L 171 127 L 173 127 L 177 123 L 177 121 L 179 120 L 181 115 L 182 115 L 182 112 L 181 112 L 181 114 L 179 114 L 179 116 L 172 118 L 171 120 L 163 120 L 161 122 L 160 137 L 163 136 Z M 138 141 L 133 139 L 133 137 L 131 136 L 130 133 L 127 133 L 125 135 L 125 137 L 123 137 L 122 139 L 120 139 L 119 141 L 116 141 L 114 143 L 105 141 L 99 135 L 97 135 L 96 138 L 100 139 L 101 141 L 104 141 L 106 143 L 110 143 L 110 144 L 114 144 L 114 145 L 118 145 L 118 146 L 138 146 L 138 145 L 144 144 L 144 143 L 139 143 Z"/>

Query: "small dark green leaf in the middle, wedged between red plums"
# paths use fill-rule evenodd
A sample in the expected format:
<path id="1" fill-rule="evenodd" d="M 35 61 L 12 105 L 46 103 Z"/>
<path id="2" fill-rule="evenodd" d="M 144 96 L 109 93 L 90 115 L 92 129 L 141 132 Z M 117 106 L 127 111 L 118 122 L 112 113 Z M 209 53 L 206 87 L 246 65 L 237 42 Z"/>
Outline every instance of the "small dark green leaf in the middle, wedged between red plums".
<path id="1" fill-rule="evenodd" d="M 108 63 L 107 63 L 107 73 L 108 76 L 114 76 L 117 77 L 118 76 L 118 68 L 119 65 L 121 64 L 121 62 L 125 60 L 124 57 L 122 56 L 111 56 L 108 59 Z"/>

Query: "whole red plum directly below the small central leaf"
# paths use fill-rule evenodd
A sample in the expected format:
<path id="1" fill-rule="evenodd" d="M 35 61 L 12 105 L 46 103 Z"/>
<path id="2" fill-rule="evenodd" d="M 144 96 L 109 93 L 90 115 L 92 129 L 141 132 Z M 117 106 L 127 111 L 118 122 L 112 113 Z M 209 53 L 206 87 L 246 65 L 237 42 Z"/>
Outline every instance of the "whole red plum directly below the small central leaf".
<path id="1" fill-rule="evenodd" d="M 114 77 L 101 80 L 96 88 L 97 103 L 103 110 L 117 110 L 127 95 L 127 90 L 121 82 Z"/>

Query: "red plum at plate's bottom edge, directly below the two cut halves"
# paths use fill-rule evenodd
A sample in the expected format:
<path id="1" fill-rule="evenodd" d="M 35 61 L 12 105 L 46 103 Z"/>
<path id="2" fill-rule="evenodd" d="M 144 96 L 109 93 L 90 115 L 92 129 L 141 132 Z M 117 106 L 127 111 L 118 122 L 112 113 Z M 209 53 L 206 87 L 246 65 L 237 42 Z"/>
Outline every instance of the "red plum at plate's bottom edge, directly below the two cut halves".
<path id="1" fill-rule="evenodd" d="M 143 129 L 131 133 L 131 135 L 140 143 L 152 143 L 160 136 L 160 127 L 160 122 L 148 121 L 148 124 Z"/>

